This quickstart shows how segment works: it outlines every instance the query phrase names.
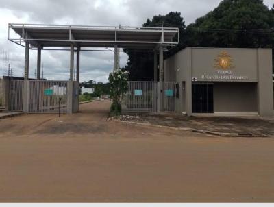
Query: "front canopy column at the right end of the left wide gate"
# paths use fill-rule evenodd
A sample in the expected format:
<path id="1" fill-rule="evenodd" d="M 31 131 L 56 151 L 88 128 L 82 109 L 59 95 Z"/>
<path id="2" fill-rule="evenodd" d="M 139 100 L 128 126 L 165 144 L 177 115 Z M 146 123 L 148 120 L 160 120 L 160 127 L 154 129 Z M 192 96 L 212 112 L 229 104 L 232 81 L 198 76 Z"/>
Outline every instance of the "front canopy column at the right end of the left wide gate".
<path id="1" fill-rule="evenodd" d="M 73 113 L 73 77 L 74 77 L 74 45 L 71 43 L 71 58 L 69 66 L 69 82 L 68 82 L 68 93 L 67 93 L 67 110 L 68 114 Z"/>

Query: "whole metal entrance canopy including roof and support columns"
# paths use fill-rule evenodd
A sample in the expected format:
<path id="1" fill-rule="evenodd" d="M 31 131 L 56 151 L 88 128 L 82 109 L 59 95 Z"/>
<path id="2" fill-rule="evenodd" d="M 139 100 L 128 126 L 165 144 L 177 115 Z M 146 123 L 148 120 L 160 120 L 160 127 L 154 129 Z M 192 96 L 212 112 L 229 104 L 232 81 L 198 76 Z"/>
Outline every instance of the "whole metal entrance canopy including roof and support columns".
<path id="1" fill-rule="evenodd" d="M 11 34 L 11 32 L 15 32 L 15 34 Z M 14 38 L 14 36 L 16 37 Z M 179 43 L 179 29 L 171 27 L 93 27 L 10 23 L 8 25 L 8 40 L 25 47 L 23 112 L 30 111 L 29 49 L 37 49 L 37 80 L 35 82 L 39 82 L 41 50 L 47 48 L 68 50 L 69 47 L 70 75 L 66 85 L 66 96 L 67 112 L 73 113 L 78 110 L 80 51 L 84 50 L 84 47 L 114 47 L 114 70 L 119 69 L 119 48 L 152 50 L 154 53 L 154 81 L 157 81 L 159 77 L 160 91 L 163 91 L 164 49 Z M 76 80 L 74 78 L 75 47 L 77 48 Z M 160 95 L 158 99 L 159 109 L 162 108 L 162 97 L 163 95 Z"/>

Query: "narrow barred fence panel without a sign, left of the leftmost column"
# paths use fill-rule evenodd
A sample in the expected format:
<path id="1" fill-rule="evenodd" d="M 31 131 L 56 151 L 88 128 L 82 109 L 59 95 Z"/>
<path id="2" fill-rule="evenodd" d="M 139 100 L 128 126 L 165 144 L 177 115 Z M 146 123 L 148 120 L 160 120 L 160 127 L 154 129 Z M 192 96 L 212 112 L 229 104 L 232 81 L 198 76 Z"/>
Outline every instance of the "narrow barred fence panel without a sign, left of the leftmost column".
<path id="1" fill-rule="evenodd" d="M 22 111 L 23 110 L 23 80 L 10 80 L 8 93 L 8 110 Z"/>

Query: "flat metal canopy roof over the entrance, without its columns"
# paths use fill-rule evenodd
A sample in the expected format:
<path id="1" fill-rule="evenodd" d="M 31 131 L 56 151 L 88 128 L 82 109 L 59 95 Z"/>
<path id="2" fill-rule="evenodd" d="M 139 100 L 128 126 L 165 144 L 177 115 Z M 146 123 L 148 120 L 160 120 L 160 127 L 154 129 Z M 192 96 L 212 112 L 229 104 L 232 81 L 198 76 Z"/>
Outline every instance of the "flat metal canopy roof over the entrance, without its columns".
<path id="1" fill-rule="evenodd" d="M 10 36 L 13 29 L 19 38 Z M 79 25 L 8 25 L 8 40 L 25 47 L 120 47 L 155 49 L 158 45 L 173 47 L 179 42 L 179 29 L 173 27 L 95 27 Z"/>

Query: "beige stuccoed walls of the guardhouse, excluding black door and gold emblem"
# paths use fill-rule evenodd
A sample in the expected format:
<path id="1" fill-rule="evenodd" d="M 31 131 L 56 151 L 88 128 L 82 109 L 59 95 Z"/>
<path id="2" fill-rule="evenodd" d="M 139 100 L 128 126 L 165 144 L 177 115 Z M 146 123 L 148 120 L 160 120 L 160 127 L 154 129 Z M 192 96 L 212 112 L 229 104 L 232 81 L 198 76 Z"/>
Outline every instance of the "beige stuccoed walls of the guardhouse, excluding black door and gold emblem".
<path id="1" fill-rule="evenodd" d="M 232 77 L 220 79 L 216 76 L 219 75 L 218 70 L 225 70 L 214 68 L 214 64 L 218 55 L 224 51 L 229 53 L 233 61 L 233 69 L 227 69 L 227 71 L 231 71 Z M 166 80 L 179 83 L 179 99 L 176 99 L 175 103 L 178 113 L 186 112 L 186 114 L 192 115 L 191 89 L 192 78 L 195 78 L 197 82 L 215 83 L 215 112 L 258 112 L 262 117 L 273 116 L 271 49 L 188 47 L 165 60 L 164 67 Z M 205 75 L 211 75 L 214 78 L 207 79 L 205 77 L 208 76 Z M 215 77 L 217 78 L 215 79 Z M 183 82 L 186 83 L 185 90 L 183 90 Z M 220 85 L 218 82 L 227 84 Z M 235 82 L 242 84 L 237 86 Z M 245 82 L 249 82 L 249 84 L 244 85 Z"/>

